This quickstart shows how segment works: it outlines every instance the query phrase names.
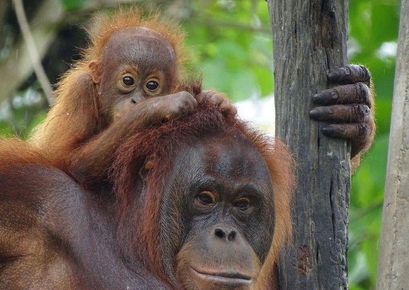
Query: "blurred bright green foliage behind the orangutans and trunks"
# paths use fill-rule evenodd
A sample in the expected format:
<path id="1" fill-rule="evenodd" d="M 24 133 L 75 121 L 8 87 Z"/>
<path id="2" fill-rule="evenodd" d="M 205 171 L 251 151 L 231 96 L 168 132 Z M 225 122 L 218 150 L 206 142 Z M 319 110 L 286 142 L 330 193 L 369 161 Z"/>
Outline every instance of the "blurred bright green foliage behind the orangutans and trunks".
<path id="1" fill-rule="evenodd" d="M 75 14 L 88 2 L 61 1 L 71 14 Z M 187 48 L 191 57 L 188 66 L 192 73 L 203 73 L 205 87 L 225 92 L 235 101 L 253 94 L 264 97 L 273 92 L 273 43 L 264 0 L 139 2 L 151 5 L 151 10 L 166 11 L 181 23 L 187 33 Z M 177 9 L 169 12 L 174 2 L 180 3 Z M 381 47 L 393 47 L 397 42 L 400 2 L 349 2 L 350 62 L 365 64 L 371 70 L 376 92 L 377 136 L 374 146 L 353 175 L 349 212 L 350 289 L 368 290 L 375 289 L 376 281 L 395 71 L 394 54 L 382 54 Z M 83 37 L 75 33 L 79 35 L 76 38 Z M 66 39 L 66 45 L 72 47 L 72 55 L 75 55 L 78 50 L 70 42 L 72 39 Z M 69 60 L 72 58 L 75 59 L 71 56 Z M 0 53 L 0 64 L 1 61 Z M 0 130 L 3 135 L 17 133 L 26 137 L 33 126 L 44 118 L 44 103 L 30 101 L 38 98 L 39 93 L 41 91 L 34 78 L 34 81 L 22 86 L 15 96 L 7 100 L 11 105 L 2 105 L 5 108 L 0 110 Z"/>

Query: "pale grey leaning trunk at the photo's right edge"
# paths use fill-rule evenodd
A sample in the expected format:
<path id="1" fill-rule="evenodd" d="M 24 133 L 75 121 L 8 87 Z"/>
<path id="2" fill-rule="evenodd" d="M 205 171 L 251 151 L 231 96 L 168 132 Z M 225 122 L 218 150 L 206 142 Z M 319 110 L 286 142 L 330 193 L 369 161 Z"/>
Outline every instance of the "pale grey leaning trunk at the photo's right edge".
<path id="1" fill-rule="evenodd" d="M 409 0 L 402 0 L 376 289 L 408 289 L 408 273 Z"/>

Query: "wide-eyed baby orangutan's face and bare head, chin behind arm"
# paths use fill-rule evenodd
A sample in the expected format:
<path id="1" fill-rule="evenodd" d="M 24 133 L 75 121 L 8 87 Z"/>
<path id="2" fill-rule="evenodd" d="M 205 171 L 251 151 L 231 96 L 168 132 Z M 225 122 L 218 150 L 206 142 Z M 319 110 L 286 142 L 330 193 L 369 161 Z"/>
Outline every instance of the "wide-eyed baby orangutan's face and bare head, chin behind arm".
<path id="1" fill-rule="evenodd" d="M 114 121 L 133 104 L 174 93 L 177 63 L 169 41 L 144 27 L 115 32 L 98 61 L 89 64 L 98 85 L 102 113 Z"/>

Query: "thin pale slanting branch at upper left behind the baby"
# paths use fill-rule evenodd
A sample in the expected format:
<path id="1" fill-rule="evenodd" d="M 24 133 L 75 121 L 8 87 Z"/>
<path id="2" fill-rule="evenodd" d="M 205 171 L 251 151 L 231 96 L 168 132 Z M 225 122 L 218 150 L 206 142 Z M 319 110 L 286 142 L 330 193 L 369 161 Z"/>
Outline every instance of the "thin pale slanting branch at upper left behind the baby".
<path id="1" fill-rule="evenodd" d="M 54 102 L 52 96 L 53 89 L 51 87 L 50 81 L 47 78 L 47 75 L 45 74 L 44 67 L 41 64 L 37 49 L 35 48 L 34 38 L 30 32 L 30 26 L 27 21 L 26 13 L 24 12 L 23 2 L 22 0 L 13 0 L 13 3 L 17 21 L 23 34 L 24 41 L 27 44 L 27 49 L 33 63 L 35 75 L 37 76 L 45 97 L 47 98 L 48 104 L 51 106 Z"/>

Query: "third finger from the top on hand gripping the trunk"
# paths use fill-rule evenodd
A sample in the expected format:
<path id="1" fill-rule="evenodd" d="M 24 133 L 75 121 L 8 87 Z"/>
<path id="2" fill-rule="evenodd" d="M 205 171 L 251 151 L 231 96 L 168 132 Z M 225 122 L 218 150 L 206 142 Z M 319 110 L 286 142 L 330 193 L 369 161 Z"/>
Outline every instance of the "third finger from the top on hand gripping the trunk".
<path id="1" fill-rule="evenodd" d="M 364 104 L 333 105 L 315 108 L 309 112 L 309 116 L 318 121 L 360 123 L 369 121 L 371 109 Z"/>

